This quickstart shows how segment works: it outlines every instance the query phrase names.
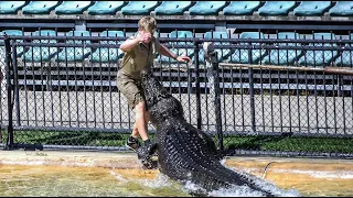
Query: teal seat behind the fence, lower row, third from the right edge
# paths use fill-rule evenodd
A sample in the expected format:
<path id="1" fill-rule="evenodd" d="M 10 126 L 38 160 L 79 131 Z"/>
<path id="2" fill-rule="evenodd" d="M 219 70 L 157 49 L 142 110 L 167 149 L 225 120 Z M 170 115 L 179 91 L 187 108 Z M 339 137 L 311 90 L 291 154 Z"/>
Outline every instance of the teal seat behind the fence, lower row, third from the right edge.
<path id="1" fill-rule="evenodd" d="M 295 32 L 280 32 L 277 34 L 279 40 L 299 40 L 300 36 Z M 300 43 L 278 43 L 278 46 L 300 46 Z M 261 61 L 267 65 L 293 65 L 303 55 L 300 50 L 271 50 L 269 55 Z"/>

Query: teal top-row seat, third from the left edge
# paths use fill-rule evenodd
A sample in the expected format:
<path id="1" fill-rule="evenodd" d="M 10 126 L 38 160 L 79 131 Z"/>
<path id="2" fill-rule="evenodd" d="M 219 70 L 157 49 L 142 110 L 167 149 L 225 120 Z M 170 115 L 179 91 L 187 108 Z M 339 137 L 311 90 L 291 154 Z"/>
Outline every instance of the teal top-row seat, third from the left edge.
<path id="1" fill-rule="evenodd" d="M 62 4 L 55 8 L 56 14 L 82 14 L 92 1 L 63 1 Z"/>

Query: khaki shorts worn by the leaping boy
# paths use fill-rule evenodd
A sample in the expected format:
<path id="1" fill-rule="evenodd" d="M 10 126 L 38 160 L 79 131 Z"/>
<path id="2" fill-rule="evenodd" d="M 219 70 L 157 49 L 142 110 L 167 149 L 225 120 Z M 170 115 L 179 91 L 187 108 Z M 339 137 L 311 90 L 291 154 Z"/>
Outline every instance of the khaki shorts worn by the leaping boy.
<path id="1" fill-rule="evenodd" d="M 128 105 L 131 109 L 141 101 L 145 101 L 145 91 L 141 82 L 125 75 L 118 75 L 117 87 L 128 100 Z"/>

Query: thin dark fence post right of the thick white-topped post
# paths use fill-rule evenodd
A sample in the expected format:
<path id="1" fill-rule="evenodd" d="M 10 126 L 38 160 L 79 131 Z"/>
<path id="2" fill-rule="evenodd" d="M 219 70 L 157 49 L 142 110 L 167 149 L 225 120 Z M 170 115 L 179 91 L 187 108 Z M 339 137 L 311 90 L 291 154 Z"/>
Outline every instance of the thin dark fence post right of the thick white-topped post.
<path id="1" fill-rule="evenodd" d="M 249 48 L 248 48 L 248 62 L 249 64 L 253 64 L 253 45 L 252 42 L 249 42 Z M 254 70 L 253 68 L 248 68 L 248 75 L 249 75 L 249 95 L 250 95 L 250 113 L 252 113 L 252 130 L 253 132 L 256 132 L 256 123 L 255 123 L 255 100 L 254 100 Z"/>

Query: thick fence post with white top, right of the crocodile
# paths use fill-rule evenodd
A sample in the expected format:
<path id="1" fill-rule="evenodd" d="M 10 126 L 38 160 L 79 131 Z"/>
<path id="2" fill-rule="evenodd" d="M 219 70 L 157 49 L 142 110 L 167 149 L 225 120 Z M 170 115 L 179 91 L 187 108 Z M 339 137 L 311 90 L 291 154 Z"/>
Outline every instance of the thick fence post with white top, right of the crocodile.
<path id="1" fill-rule="evenodd" d="M 213 43 L 205 42 L 203 44 L 204 54 L 205 54 L 205 62 L 206 62 L 206 68 L 207 68 L 207 77 L 210 82 L 210 95 L 213 100 L 214 105 L 214 113 L 216 116 L 215 118 L 215 127 L 216 127 L 216 133 L 218 138 L 218 147 L 221 152 L 223 153 L 224 146 L 223 146 L 223 132 L 222 132 L 222 110 L 221 110 L 221 95 L 220 95 L 220 78 L 218 78 L 218 55 L 217 52 L 213 48 Z"/>

